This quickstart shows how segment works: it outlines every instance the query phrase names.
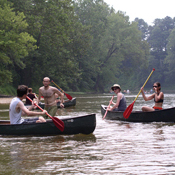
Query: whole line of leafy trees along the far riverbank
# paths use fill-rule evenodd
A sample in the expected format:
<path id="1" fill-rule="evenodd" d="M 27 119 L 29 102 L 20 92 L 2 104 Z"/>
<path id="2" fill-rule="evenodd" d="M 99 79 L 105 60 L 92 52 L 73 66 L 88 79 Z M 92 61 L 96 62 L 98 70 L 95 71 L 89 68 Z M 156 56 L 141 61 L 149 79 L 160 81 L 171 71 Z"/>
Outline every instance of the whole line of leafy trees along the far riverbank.
<path id="1" fill-rule="evenodd" d="M 1 87 L 38 90 L 48 76 L 65 91 L 135 90 L 152 68 L 147 87 L 175 86 L 175 18 L 149 26 L 103 0 L 1 0 L 0 24 Z"/>

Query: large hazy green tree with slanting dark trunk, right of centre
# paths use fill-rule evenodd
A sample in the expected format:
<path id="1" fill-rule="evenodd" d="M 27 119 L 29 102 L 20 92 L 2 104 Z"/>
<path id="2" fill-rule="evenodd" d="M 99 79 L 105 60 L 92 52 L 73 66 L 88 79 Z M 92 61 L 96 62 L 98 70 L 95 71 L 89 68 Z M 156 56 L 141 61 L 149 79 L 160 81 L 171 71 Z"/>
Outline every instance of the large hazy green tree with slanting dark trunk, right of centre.
<path id="1" fill-rule="evenodd" d="M 102 0 L 76 2 L 75 12 L 93 37 L 92 48 L 79 62 L 86 88 L 104 92 L 121 74 L 128 76 L 134 66 L 147 65 L 149 47 L 137 23 L 130 24 L 128 16 Z"/>

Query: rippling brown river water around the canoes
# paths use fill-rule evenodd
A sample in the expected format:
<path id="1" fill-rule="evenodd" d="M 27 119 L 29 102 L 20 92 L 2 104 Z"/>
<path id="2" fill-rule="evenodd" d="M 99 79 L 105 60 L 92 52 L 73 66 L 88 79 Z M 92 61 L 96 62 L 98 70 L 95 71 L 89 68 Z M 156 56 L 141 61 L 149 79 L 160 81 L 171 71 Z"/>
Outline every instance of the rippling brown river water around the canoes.
<path id="1" fill-rule="evenodd" d="M 137 94 L 136 94 L 137 95 Z M 131 104 L 135 94 L 125 95 Z M 112 94 L 74 95 L 75 107 L 59 109 L 60 118 L 96 113 L 90 135 L 0 136 L 0 174 L 175 174 L 175 125 L 102 120 L 100 105 Z M 0 99 L 0 119 L 8 119 L 10 98 Z M 116 100 L 116 97 L 114 98 Z M 139 96 L 133 110 L 153 106 Z M 175 106 L 165 94 L 164 108 Z"/>

